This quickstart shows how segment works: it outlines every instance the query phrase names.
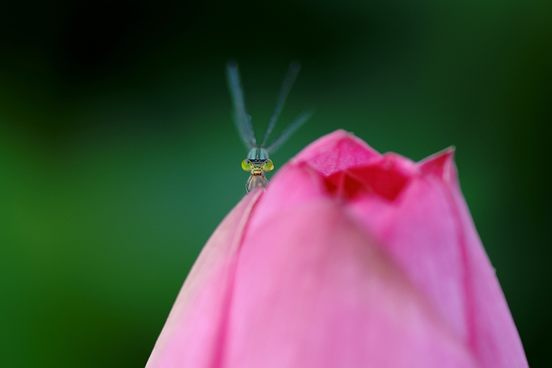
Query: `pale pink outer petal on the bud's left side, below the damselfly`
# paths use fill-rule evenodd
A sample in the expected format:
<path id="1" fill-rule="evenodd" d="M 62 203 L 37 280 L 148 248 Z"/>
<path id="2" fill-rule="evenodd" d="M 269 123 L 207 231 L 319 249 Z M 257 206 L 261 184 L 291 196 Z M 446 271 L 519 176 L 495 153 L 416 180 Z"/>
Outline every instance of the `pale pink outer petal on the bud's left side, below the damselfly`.
<path id="1" fill-rule="evenodd" d="M 202 249 L 165 322 L 146 368 L 217 367 L 239 248 L 264 191 L 246 195 Z"/>

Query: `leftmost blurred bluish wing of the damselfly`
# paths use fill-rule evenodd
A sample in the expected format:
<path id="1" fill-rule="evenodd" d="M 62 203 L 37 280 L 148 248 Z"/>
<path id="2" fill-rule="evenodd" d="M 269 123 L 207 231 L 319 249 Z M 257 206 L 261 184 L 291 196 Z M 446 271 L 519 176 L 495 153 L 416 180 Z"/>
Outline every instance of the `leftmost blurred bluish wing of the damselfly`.
<path id="1" fill-rule="evenodd" d="M 246 111 L 244 92 L 235 61 L 229 61 L 226 64 L 226 76 L 228 77 L 228 88 L 230 88 L 230 95 L 232 95 L 234 103 L 234 122 L 239 135 L 242 137 L 242 141 L 244 141 L 246 148 L 250 150 L 257 146 L 257 140 L 255 139 L 253 125 L 251 125 L 251 117 Z"/>

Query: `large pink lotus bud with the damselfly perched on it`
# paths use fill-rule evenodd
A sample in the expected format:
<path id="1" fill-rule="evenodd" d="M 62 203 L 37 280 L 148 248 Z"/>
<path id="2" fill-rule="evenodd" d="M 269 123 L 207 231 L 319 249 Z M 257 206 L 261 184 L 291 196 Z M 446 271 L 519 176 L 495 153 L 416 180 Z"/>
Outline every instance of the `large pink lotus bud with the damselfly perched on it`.
<path id="1" fill-rule="evenodd" d="M 527 367 L 448 149 L 337 130 L 204 247 L 147 367 Z"/>

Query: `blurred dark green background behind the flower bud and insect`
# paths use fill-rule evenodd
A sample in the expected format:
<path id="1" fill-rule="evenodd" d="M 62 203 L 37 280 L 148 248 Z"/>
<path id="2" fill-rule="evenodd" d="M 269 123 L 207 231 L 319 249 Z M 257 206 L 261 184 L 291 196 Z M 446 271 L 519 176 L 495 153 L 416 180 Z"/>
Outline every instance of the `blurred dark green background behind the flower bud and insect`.
<path id="1" fill-rule="evenodd" d="M 143 367 L 201 246 L 244 195 L 224 66 L 275 155 L 353 131 L 447 146 L 533 367 L 552 366 L 550 1 L 3 2 L 0 367 Z M 259 238 L 262 242 L 262 238 Z"/>

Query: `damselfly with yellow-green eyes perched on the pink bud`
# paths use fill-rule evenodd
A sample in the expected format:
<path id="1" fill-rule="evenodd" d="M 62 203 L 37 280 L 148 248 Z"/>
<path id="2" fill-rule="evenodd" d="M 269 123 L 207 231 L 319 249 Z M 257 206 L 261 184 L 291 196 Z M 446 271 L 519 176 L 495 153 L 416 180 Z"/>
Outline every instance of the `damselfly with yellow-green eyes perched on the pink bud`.
<path id="1" fill-rule="evenodd" d="M 292 135 L 300 126 L 302 126 L 312 115 L 311 111 L 306 111 L 295 117 L 295 119 L 293 119 L 293 121 L 282 131 L 282 133 L 280 133 L 277 138 L 266 146 L 268 136 L 276 124 L 280 111 L 284 107 L 284 102 L 286 101 L 286 97 L 288 97 L 289 91 L 293 86 L 293 82 L 297 77 L 299 68 L 300 65 L 297 62 L 292 62 L 290 64 L 288 73 L 284 78 L 284 84 L 282 84 L 282 90 L 280 90 L 276 101 L 276 106 L 270 120 L 268 121 L 268 126 L 266 126 L 262 143 L 257 144 L 257 139 L 255 139 L 255 130 L 253 130 L 253 125 L 251 124 L 251 117 L 246 111 L 244 93 L 239 78 L 237 64 L 235 61 L 230 61 L 226 64 L 228 87 L 230 88 L 230 95 L 232 95 L 234 105 L 234 122 L 239 135 L 242 136 L 242 141 L 249 151 L 247 158 L 242 161 L 242 168 L 244 171 L 250 173 L 250 176 L 246 182 L 247 193 L 253 191 L 253 188 L 257 186 L 262 186 L 264 188 L 268 186 L 268 180 L 266 180 L 264 173 L 271 171 L 274 168 L 272 160 L 268 158 L 268 153 L 274 153 L 280 146 L 282 146 L 282 144 L 284 144 L 284 142 L 286 142 L 286 139 L 288 139 L 288 137 L 290 137 L 290 135 Z"/>

